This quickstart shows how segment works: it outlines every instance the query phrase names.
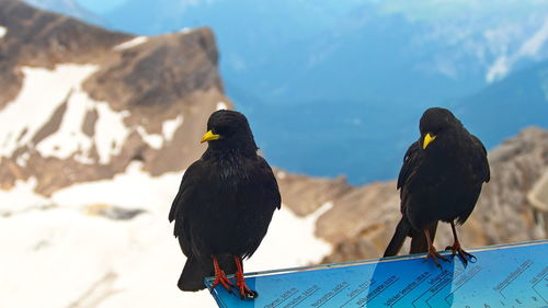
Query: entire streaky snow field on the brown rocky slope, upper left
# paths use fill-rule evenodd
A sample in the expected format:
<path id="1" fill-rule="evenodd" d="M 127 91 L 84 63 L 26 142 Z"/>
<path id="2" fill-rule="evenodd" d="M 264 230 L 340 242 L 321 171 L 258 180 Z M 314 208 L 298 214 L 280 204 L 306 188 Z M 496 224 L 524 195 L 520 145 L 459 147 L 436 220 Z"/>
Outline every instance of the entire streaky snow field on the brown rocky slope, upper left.
<path id="1" fill-rule="evenodd" d="M 94 163 L 89 150 L 95 145 L 100 163 L 106 164 L 122 150 L 129 129 L 124 125 L 127 111 L 115 112 L 109 103 L 92 100 L 82 90 L 82 83 L 99 70 L 94 65 L 57 65 L 55 69 L 23 67 L 23 85 L 19 95 L 0 112 L 0 156 L 10 157 L 20 147 L 36 147 L 44 157 L 65 159 L 72 153 L 82 163 Z M 53 91 L 52 89 L 55 89 Z M 32 144 L 36 135 L 64 104 L 67 109 L 59 129 Z M 89 111 L 99 114 L 95 135 L 82 132 Z M 114 147 L 113 147 L 114 145 Z M 26 161 L 18 161 L 24 166 Z"/>

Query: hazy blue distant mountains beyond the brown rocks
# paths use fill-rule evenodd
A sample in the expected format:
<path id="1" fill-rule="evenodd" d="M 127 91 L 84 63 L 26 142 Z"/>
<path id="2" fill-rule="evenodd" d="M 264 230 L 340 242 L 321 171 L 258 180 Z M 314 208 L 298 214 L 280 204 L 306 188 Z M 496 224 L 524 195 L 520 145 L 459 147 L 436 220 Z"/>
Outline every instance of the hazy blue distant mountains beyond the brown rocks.
<path id="1" fill-rule="evenodd" d="M 488 148 L 548 126 L 541 0 L 101 2 L 35 4 L 139 35 L 210 27 L 227 95 L 293 172 L 393 179 L 427 106 L 454 109 Z"/>

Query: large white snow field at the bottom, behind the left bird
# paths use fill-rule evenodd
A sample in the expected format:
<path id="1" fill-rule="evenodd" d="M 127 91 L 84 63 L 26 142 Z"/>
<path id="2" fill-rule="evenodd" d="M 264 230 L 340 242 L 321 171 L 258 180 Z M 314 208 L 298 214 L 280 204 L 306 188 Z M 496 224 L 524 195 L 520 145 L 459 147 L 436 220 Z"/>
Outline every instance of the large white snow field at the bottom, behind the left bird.
<path id="1" fill-rule="evenodd" d="M 0 266 L 4 295 L 0 307 L 69 307 L 79 299 L 95 299 L 101 308 L 155 307 L 158 303 L 173 308 L 216 307 L 207 290 L 182 293 L 176 287 L 185 258 L 167 216 L 182 172 L 152 178 L 141 167 L 133 162 L 112 180 L 76 184 L 49 199 L 33 198 L 32 183 L 18 184 L 19 195 L 12 197 L 18 206 L 39 202 L 57 206 L 0 216 L 2 262 L 11 264 Z M 146 213 L 130 220 L 111 220 L 85 215 L 81 209 L 91 204 Z M 14 206 L 11 202 L 0 205 Z M 313 233 L 316 219 L 327 208 L 301 218 L 282 206 L 263 243 L 246 261 L 247 272 L 321 260 L 331 247 Z"/>

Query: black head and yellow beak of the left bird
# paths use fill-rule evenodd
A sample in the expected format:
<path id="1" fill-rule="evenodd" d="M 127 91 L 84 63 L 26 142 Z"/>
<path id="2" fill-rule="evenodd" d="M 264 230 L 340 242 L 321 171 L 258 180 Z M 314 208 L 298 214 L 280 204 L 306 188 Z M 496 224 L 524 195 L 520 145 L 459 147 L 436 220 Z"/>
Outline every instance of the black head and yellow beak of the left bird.
<path id="1" fill-rule="evenodd" d="M 236 111 L 220 110 L 209 116 L 201 142 L 206 141 L 213 149 L 258 150 L 248 119 Z"/>

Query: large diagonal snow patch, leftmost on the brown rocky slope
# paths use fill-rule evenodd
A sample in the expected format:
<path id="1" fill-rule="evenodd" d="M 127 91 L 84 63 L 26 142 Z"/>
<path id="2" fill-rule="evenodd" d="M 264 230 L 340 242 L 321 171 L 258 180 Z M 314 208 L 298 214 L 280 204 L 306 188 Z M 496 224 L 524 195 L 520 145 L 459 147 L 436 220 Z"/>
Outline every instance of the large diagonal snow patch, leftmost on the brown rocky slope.
<path id="1" fill-rule="evenodd" d="M 0 156 L 9 157 L 31 140 L 67 95 L 99 69 L 95 65 L 58 65 L 54 70 L 23 67 L 19 95 L 0 112 Z"/>

